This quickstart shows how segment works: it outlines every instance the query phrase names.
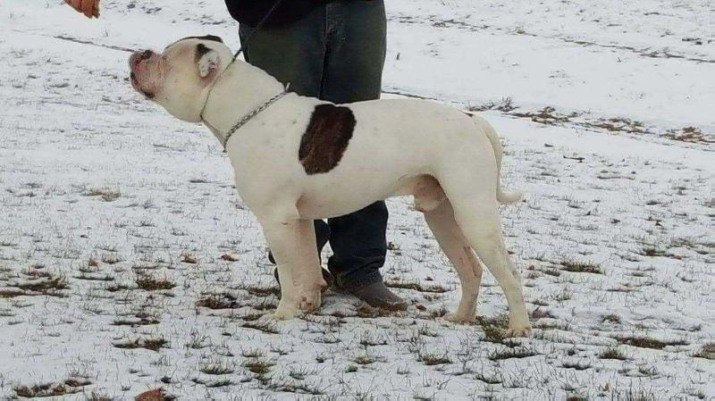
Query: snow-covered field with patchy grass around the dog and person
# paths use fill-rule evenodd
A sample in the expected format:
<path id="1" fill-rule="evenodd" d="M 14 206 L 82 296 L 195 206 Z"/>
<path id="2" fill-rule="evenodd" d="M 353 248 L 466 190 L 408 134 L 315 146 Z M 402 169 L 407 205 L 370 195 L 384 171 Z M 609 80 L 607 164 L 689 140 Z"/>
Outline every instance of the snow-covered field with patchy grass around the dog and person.
<path id="1" fill-rule="evenodd" d="M 381 313 L 327 294 L 265 324 L 273 267 L 208 130 L 130 88 L 125 49 L 213 33 L 220 0 L 0 3 L 0 399 L 715 397 L 715 5 L 388 0 L 386 96 L 481 111 L 533 338 L 473 325 L 411 199 Z M 329 252 L 329 251 L 328 251 Z"/>

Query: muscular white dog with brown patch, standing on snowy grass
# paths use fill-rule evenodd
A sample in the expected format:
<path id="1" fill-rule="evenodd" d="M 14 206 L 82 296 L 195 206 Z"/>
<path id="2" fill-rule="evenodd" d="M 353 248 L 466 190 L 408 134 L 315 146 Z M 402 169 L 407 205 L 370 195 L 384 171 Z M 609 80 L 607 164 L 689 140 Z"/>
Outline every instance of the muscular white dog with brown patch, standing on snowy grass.
<path id="1" fill-rule="evenodd" d="M 222 141 L 236 188 L 256 213 L 278 264 L 277 319 L 321 304 L 314 219 L 355 212 L 390 196 L 415 196 L 457 269 L 462 297 L 452 322 L 471 322 L 486 264 L 509 302 L 512 336 L 531 330 L 521 280 L 501 235 L 499 138 L 480 117 L 421 100 L 336 105 L 286 93 L 234 60 L 220 38 L 184 38 L 132 54 L 134 88 Z M 235 135 L 234 135 L 235 133 Z"/>

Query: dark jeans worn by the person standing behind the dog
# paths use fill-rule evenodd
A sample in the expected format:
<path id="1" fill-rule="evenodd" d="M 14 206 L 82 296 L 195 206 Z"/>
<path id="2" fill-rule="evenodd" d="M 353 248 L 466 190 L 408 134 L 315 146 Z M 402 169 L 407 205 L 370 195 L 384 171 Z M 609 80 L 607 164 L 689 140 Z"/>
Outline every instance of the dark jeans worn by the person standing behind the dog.
<path id="1" fill-rule="evenodd" d="M 383 0 L 337 0 L 250 38 L 253 29 L 241 26 L 240 40 L 246 61 L 290 83 L 291 91 L 345 104 L 380 97 L 386 30 Z M 330 241 L 328 269 L 339 286 L 383 280 L 387 217 L 384 202 L 377 202 L 327 223 L 315 221 L 318 246 Z"/>

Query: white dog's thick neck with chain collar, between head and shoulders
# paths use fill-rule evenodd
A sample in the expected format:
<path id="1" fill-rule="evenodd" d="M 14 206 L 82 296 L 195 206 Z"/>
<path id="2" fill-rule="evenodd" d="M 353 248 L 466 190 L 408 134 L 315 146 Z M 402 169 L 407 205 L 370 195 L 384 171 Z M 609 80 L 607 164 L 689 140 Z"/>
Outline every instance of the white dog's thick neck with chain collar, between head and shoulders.
<path id="1" fill-rule="evenodd" d="M 283 90 L 278 79 L 237 60 L 222 72 L 208 91 L 201 119 L 216 138 L 225 143 L 226 134 L 236 121 Z"/>

